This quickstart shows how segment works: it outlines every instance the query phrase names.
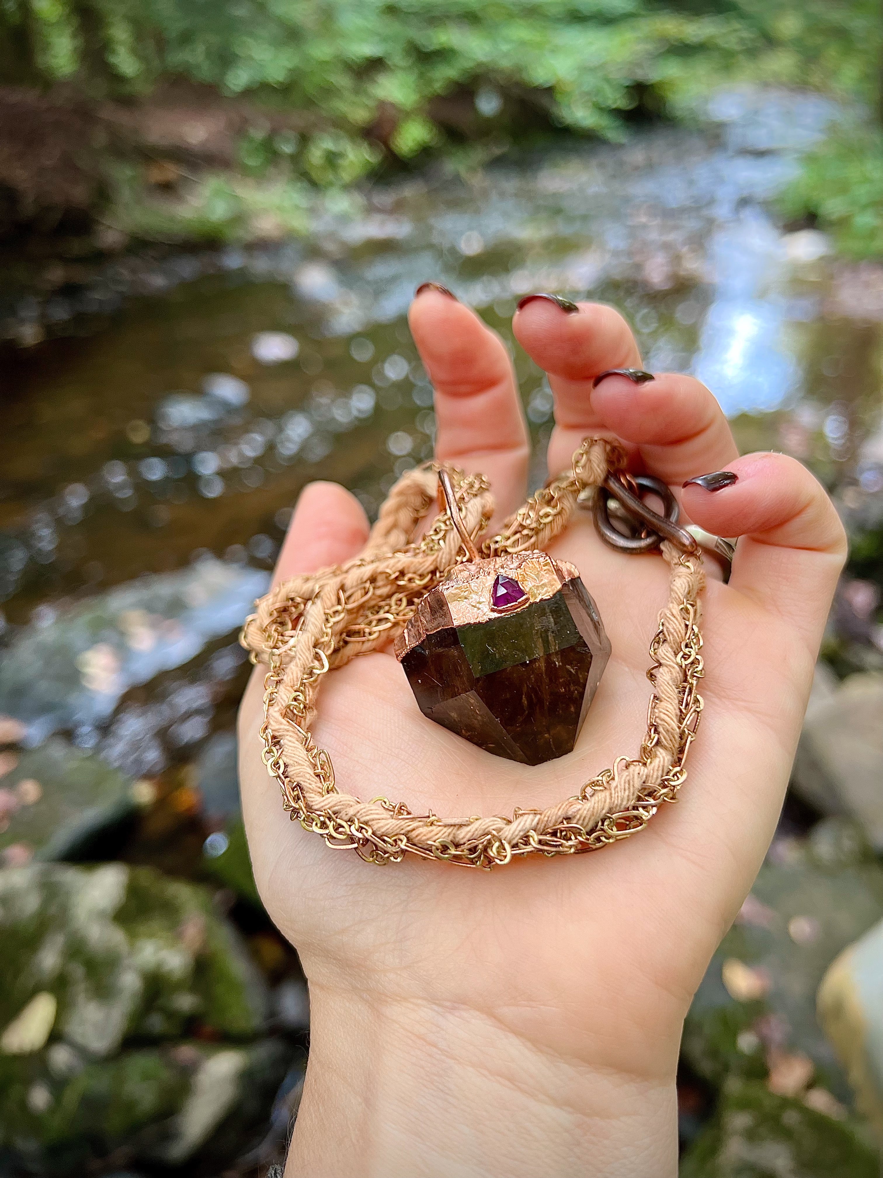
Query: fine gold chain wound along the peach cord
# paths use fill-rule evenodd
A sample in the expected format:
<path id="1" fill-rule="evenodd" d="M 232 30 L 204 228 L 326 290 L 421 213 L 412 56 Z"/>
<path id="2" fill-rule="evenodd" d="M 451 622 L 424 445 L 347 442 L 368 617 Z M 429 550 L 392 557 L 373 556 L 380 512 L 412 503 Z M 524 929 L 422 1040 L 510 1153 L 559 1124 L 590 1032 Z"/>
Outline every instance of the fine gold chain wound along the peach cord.
<path id="1" fill-rule="evenodd" d="M 485 554 L 500 555 L 539 547 L 540 537 L 556 524 L 562 514 L 569 515 L 572 511 L 576 498 L 585 490 L 586 485 L 591 485 L 586 484 L 582 466 L 593 441 L 587 438 L 583 443 L 573 457 L 570 474 L 551 481 L 520 508 L 498 535 L 484 542 L 483 551 Z M 622 469 L 624 457 L 619 448 L 606 443 L 606 451 L 608 469 Z M 464 498 L 474 497 L 486 489 L 487 482 L 480 475 L 462 476 L 458 479 L 458 490 Z M 484 524 L 483 518 L 482 527 Z M 409 544 L 401 552 L 410 556 L 438 552 L 450 531 L 451 521 L 446 514 L 442 514 L 420 541 Z M 696 556 L 682 554 L 673 563 L 676 567 L 679 565 L 682 569 L 696 574 Z M 347 568 L 358 569 L 360 563 L 366 562 L 356 561 Z M 308 717 L 314 708 L 316 694 L 321 677 L 334 666 L 347 661 L 352 654 L 373 649 L 381 641 L 387 641 L 400 633 L 423 595 L 439 580 L 442 580 L 442 573 L 438 570 L 419 575 L 413 573 L 387 574 L 385 581 L 383 578 L 366 581 L 348 594 L 338 590 L 337 600 L 326 607 L 321 605 L 318 595 L 313 598 L 288 596 L 265 620 L 263 636 L 265 648 L 268 651 L 268 667 L 264 680 L 264 722 L 260 728 L 264 749 L 261 755 L 271 776 L 279 783 L 283 805 L 293 820 L 299 821 L 305 829 L 321 835 L 330 847 L 354 849 L 363 859 L 376 863 L 399 862 L 406 854 L 414 854 L 466 867 L 492 867 L 494 865 L 503 866 L 525 854 L 559 855 L 595 851 L 643 829 L 660 805 L 675 801 L 677 792 L 686 777 L 685 762 L 696 736 L 703 707 L 702 696 L 698 694 L 698 683 L 703 676 L 702 635 L 695 596 L 683 596 L 677 603 L 670 603 L 670 609 L 672 604 L 676 604 L 677 616 L 683 624 L 684 634 L 676 654 L 676 663 L 682 676 L 678 689 L 677 748 L 671 752 L 671 766 L 662 779 L 656 783 L 643 786 L 628 808 L 608 813 L 592 826 L 583 826 L 577 821 L 567 820 L 542 832 L 529 829 L 511 842 L 498 834 L 490 833 L 454 843 L 444 838 L 414 841 L 406 833 L 378 834 L 369 822 L 359 818 L 311 807 L 304 796 L 303 786 L 292 781 L 286 772 L 283 741 L 280 735 L 273 730 L 271 713 L 275 709 L 285 721 L 287 730 L 296 735 L 320 786 L 321 795 L 338 794 L 331 759 L 324 749 L 317 747 L 308 730 Z M 324 617 L 321 629 L 313 642 L 312 662 L 300 675 L 297 687 L 290 691 L 286 699 L 280 700 L 279 693 L 285 679 L 286 656 L 291 656 L 296 648 L 305 621 L 313 608 L 324 608 Z M 648 671 L 648 677 L 655 688 L 656 671 L 660 666 L 658 651 L 664 641 L 664 627 L 660 620 L 659 628 L 650 644 L 652 664 Z M 248 646 L 246 630 L 244 630 L 243 644 Z M 254 654 L 252 654 L 252 660 L 255 661 Z M 612 769 L 604 769 L 591 781 L 587 781 L 575 795 L 573 802 L 585 802 L 592 795 L 609 790 L 615 776 L 624 769 L 632 766 L 646 767 L 650 763 L 659 740 L 655 721 L 657 703 L 658 696 L 653 690 L 648 710 L 648 730 L 638 757 L 636 760 L 619 757 Z M 413 818 L 417 821 L 418 816 L 412 815 L 403 802 L 393 803 L 386 798 L 374 798 L 372 803 L 381 807 L 384 813 L 393 818 Z M 517 809 L 514 818 L 517 819 L 525 813 L 535 812 Z M 462 820 L 463 825 L 470 825 L 473 821 L 476 820 Z M 420 815 L 419 823 L 424 829 L 431 828 L 433 825 L 447 827 L 458 825 L 458 822 L 447 819 L 443 821 L 433 814 Z"/>

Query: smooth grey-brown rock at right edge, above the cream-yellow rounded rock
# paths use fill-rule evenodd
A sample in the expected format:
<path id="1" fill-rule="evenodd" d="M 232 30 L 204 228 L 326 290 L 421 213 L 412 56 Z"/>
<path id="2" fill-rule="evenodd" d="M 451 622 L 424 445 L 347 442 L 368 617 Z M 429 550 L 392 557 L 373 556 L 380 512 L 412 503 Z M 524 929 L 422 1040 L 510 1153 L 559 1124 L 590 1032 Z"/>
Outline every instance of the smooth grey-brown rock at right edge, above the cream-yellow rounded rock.
<path id="1" fill-rule="evenodd" d="M 849 814 L 883 851 L 883 676 L 851 675 L 811 703 L 792 788 L 824 814 Z"/>

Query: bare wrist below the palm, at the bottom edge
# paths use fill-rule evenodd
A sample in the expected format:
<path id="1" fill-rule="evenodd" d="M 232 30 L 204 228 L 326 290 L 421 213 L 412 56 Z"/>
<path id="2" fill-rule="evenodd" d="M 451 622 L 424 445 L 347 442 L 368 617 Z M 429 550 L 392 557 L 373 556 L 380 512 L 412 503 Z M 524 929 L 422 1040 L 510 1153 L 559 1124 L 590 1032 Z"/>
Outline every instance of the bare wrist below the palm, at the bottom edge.
<path id="1" fill-rule="evenodd" d="M 630 1076 L 472 1010 L 311 990 L 286 1178 L 676 1172 L 675 1059 Z"/>

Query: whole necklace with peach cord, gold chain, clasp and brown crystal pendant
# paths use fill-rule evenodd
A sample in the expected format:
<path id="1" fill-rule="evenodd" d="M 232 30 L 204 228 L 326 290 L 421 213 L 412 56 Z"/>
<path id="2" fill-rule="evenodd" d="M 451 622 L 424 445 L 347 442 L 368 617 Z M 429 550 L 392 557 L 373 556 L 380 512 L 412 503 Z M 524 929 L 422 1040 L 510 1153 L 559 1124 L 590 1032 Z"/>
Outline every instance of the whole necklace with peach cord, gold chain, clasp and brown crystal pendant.
<path id="1" fill-rule="evenodd" d="M 642 491 L 662 497 L 664 515 L 643 502 Z M 444 510 L 413 540 L 437 497 Z M 583 504 L 606 543 L 656 550 L 670 569 L 669 600 L 650 643 L 652 693 L 637 756 L 617 757 L 544 810 L 516 808 L 511 818 L 417 815 L 403 802 L 340 793 L 328 754 L 310 733 L 319 684 L 330 670 L 390 640 L 430 719 L 524 763 L 573 747 L 610 643 L 577 570 L 544 549 Z M 471 867 L 593 851 L 643 829 L 686 777 L 702 713 L 704 573 L 669 488 L 625 474 L 616 443 L 586 438 L 570 471 L 479 547 L 492 511 L 482 475 L 432 464 L 409 471 L 390 491 L 359 556 L 278 585 L 245 623 L 243 646 L 252 662 L 267 666 L 264 763 L 291 818 L 331 847 L 377 863 L 414 854 Z"/>

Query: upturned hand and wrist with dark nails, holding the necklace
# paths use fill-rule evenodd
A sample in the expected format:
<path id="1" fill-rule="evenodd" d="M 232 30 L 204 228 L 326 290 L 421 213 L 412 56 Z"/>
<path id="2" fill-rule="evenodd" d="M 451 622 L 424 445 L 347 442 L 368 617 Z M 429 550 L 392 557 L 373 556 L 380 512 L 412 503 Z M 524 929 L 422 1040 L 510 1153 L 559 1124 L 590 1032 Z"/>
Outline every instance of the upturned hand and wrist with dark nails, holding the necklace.
<path id="1" fill-rule="evenodd" d="M 437 456 L 489 476 L 499 523 L 524 498 L 529 459 L 505 348 L 436 290 L 414 300 L 411 329 L 436 388 Z M 677 806 L 602 854 L 490 873 L 410 859 L 379 869 L 285 821 L 260 760 L 258 668 L 240 712 L 243 808 L 258 888 L 311 994 L 290 1176 L 675 1174 L 683 1019 L 788 785 L 845 556 L 823 489 L 782 455 L 738 458 L 691 377 L 612 376 L 593 389 L 598 373 L 640 364 L 611 309 L 529 300 L 514 331 L 555 392 L 551 474 L 586 435 L 617 437 L 631 469 L 672 485 L 690 519 L 742 537 L 729 585 L 709 571 L 689 779 Z M 723 469 L 738 476 L 725 489 L 682 491 Z M 366 535 L 353 496 L 313 484 L 277 580 L 347 560 Z M 550 551 L 579 568 L 612 644 L 575 752 L 537 767 L 491 756 L 426 720 L 392 653 L 378 651 L 328 675 L 319 697 L 313 734 L 341 788 L 414 813 L 511 813 L 637 753 L 668 567 L 605 547 L 587 512 Z"/>

